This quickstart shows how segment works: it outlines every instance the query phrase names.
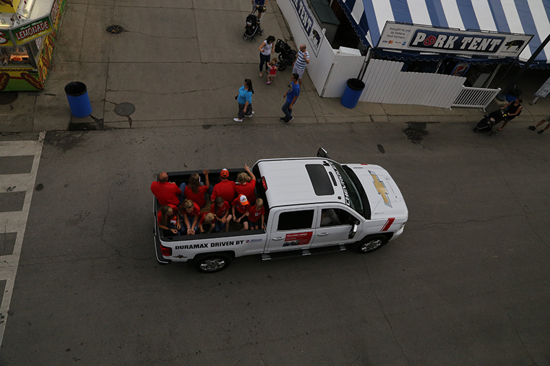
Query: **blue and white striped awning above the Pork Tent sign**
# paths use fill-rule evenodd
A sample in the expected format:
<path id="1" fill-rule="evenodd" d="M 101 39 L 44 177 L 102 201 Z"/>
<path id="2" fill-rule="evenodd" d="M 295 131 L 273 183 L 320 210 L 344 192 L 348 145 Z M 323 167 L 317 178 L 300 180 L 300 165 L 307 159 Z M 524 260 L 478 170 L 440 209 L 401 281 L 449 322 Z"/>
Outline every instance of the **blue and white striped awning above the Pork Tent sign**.
<path id="1" fill-rule="evenodd" d="M 519 59 L 526 61 L 550 34 L 550 0 L 338 0 L 362 43 L 376 47 L 386 21 L 534 34 Z M 550 63 L 550 43 L 535 63 Z"/>

